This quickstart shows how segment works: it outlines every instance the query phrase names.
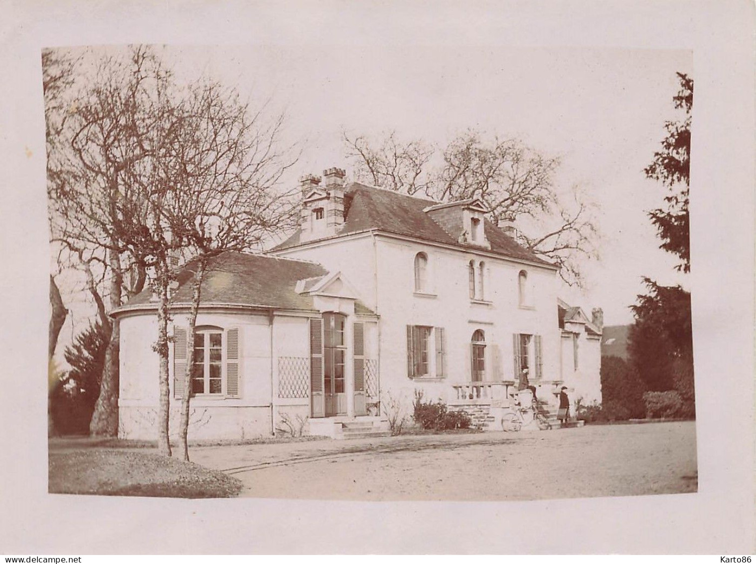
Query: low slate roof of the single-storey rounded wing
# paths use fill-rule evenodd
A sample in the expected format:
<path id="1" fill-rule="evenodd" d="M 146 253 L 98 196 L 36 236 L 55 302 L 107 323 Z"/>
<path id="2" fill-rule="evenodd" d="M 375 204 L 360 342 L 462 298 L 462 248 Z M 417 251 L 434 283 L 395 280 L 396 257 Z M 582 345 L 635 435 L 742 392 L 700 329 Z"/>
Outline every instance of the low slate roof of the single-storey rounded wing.
<path id="1" fill-rule="evenodd" d="M 178 288 L 173 290 L 173 305 L 191 303 L 191 279 L 196 262 L 188 262 L 178 273 Z M 328 271 L 314 262 L 280 259 L 275 256 L 228 252 L 209 262 L 202 283 L 201 303 L 245 305 L 261 308 L 312 310 L 312 297 L 296 293 L 298 280 L 320 279 Z M 150 302 L 152 291 L 143 290 L 117 311 L 127 311 Z M 355 303 L 358 314 L 373 313 L 361 302 Z"/>

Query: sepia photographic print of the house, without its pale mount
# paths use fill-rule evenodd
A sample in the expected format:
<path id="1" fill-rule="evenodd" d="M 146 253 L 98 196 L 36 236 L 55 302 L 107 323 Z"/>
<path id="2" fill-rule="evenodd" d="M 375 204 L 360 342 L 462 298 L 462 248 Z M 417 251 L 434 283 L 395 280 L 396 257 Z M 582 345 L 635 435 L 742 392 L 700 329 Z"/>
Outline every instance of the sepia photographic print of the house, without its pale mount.
<path id="1" fill-rule="evenodd" d="M 696 491 L 689 52 L 41 56 L 52 493 Z"/>

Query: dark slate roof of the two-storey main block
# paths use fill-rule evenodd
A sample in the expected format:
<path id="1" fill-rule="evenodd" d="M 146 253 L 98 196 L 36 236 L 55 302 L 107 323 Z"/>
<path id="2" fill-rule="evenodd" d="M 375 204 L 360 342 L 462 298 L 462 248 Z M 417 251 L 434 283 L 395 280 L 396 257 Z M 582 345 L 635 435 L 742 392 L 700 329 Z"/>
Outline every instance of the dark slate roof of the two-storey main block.
<path id="1" fill-rule="evenodd" d="M 376 230 L 434 243 L 445 243 L 463 249 L 481 249 L 479 246 L 458 241 L 462 232 L 462 206 L 445 206 L 428 212 L 423 211 L 437 204 L 438 202 L 434 200 L 406 196 L 352 182 L 345 188 L 345 221 L 336 237 Z M 295 231 L 271 251 L 298 246 L 301 243 L 299 235 L 300 231 Z M 516 243 L 512 237 L 488 220 L 485 221 L 485 235 L 491 243 L 491 253 L 553 266 Z M 310 241 L 307 242 L 310 243 Z"/>

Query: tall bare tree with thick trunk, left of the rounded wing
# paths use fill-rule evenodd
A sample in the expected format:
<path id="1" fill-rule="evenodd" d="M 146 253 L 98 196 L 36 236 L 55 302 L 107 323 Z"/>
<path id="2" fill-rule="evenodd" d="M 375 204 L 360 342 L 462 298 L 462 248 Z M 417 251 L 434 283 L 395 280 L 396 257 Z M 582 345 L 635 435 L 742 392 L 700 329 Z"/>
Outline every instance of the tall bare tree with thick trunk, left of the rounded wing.
<path id="1" fill-rule="evenodd" d="M 153 172 L 150 160 L 170 138 L 165 126 L 172 116 L 166 96 L 170 73 L 147 48 L 132 49 L 126 60 L 101 58 L 93 67 L 93 76 L 85 77 L 90 79 L 87 88 L 77 93 L 67 110 L 58 134 L 64 143 L 48 156 L 48 190 L 53 240 L 87 274 L 88 290 L 110 330 L 90 430 L 95 435 L 115 435 L 119 330 L 104 315 L 105 301 L 107 309 L 117 308 L 124 293 L 141 291 L 150 267 L 147 258 L 153 248 L 141 244 L 150 207 L 133 179 Z M 102 273 L 107 292 L 93 283 L 93 265 Z"/>

